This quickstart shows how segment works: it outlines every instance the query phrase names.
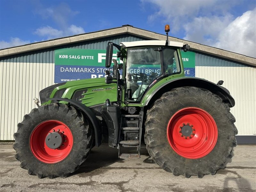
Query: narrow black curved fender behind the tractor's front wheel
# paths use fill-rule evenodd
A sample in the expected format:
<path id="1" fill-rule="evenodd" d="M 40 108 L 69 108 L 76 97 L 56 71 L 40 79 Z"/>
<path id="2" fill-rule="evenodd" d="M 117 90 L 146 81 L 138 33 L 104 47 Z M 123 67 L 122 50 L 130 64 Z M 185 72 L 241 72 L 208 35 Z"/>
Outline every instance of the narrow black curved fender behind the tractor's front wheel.
<path id="1" fill-rule="evenodd" d="M 67 99 L 67 98 L 47 98 L 46 100 L 66 101 L 72 105 L 75 105 L 79 109 L 81 109 L 86 114 L 86 116 L 88 116 L 88 118 L 91 121 L 92 126 L 94 128 L 96 147 L 100 146 L 100 144 L 101 144 L 100 124 L 97 120 L 97 117 L 94 115 L 94 113 L 92 112 L 92 110 L 89 107 L 83 105 L 82 103 L 80 103 L 78 101 Z"/>

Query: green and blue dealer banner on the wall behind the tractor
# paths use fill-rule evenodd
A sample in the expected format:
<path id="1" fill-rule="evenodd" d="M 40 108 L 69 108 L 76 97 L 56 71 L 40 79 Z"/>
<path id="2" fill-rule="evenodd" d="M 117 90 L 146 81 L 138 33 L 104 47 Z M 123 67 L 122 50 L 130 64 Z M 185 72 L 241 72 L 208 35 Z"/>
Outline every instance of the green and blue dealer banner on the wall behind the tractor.
<path id="1" fill-rule="evenodd" d="M 123 63 L 116 57 L 113 50 L 113 59 Z M 195 76 L 195 53 L 181 52 L 186 76 Z M 54 83 L 75 81 L 80 79 L 104 77 L 106 50 L 97 49 L 58 49 L 55 50 Z"/>

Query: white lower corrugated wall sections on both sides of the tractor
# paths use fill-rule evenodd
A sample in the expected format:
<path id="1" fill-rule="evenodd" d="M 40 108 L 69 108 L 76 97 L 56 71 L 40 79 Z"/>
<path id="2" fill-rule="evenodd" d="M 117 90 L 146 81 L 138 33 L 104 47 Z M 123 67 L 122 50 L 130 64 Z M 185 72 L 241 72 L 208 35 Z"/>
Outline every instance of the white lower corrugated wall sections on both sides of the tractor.
<path id="1" fill-rule="evenodd" d="M 196 77 L 223 80 L 236 101 L 231 112 L 238 135 L 256 134 L 256 68 L 196 66 Z M 0 140 L 14 140 L 17 124 L 36 107 L 33 98 L 52 84 L 52 63 L 0 62 Z"/>

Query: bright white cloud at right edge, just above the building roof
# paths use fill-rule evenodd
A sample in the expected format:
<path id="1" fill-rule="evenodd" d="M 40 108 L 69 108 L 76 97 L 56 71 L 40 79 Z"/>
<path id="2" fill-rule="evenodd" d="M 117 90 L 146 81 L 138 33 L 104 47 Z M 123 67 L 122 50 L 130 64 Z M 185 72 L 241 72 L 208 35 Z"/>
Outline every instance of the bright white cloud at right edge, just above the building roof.
<path id="1" fill-rule="evenodd" d="M 256 58 L 256 8 L 244 12 L 220 31 L 213 46 Z"/>

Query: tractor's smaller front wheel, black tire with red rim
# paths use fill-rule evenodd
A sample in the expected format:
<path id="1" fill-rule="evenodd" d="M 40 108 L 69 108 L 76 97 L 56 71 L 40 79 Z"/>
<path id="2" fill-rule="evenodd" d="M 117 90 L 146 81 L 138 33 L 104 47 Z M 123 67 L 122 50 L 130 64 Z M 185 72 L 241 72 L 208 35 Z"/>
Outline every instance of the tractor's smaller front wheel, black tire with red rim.
<path id="1" fill-rule="evenodd" d="M 65 104 L 32 109 L 18 124 L 14 138 L 20 167 L 39 178 L 65 177 L 75 172 L 92 148 L 88 121 Z"/>

